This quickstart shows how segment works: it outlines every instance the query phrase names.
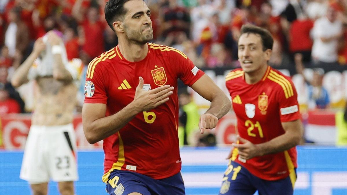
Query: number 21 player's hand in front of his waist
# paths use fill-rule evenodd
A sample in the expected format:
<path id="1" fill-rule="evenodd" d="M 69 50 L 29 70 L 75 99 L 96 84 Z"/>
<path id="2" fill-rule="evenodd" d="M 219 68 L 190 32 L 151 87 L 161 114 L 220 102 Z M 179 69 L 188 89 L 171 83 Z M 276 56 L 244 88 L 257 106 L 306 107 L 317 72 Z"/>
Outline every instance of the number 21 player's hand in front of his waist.
<path id="1" fill-rule="evenodd" d="M 248 141 L 247 139 L 240 137 L 239 135 L 237 135 L 237 139 L 240 141 L 240 143 L 243 143 L 243 144 L 233 143 L 231 145 L 238 149 L 239 151 L 238 154 L 240 158 L 248 160 L 255 156 L 260 156 L 258 147 L 255 144 Z"/>

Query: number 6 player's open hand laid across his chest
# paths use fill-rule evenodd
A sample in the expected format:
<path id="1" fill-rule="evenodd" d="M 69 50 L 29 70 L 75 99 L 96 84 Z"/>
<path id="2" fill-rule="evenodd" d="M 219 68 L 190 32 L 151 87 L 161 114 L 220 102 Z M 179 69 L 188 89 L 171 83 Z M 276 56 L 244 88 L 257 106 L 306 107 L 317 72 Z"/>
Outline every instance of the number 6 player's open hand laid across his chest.
<path id="1" fill-rule="evenodd" d="M 139 83 L 136 87 L 135 97 L 132 102 L 135 109 L 139 112 L 141 111 L 149 111 L 153 108 L 167 102 L 169 100 L 169 96 L 174 92 L 174 87 L 170 85 L 164 85 L 154 90 L 145 91 L 143 90 L 143 78 L 139 78 Z"/>

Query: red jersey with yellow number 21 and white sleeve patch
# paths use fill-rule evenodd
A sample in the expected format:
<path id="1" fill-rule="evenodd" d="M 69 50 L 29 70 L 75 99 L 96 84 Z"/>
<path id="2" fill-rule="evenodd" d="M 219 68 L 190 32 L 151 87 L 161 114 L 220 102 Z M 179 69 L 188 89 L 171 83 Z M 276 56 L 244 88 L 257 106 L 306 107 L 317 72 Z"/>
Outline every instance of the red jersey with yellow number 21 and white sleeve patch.
<path id="1" fill-rule="evenodd" d="M 235 69 L 226 76 L 226 86 L 237 116 L 240 137 L 260 144 L 285 133 L 281 122 L 301 119 L 297 93 L 290 78 L 272 69 L 256 84 L 247 84 L 244 71 Z M 253 175 L 265 180 L 278 180 L 294 173 L 296 148 L 275 154 L 257 156 L 245 161 L 232 152 L 232 160 L 240 163 Z"/>

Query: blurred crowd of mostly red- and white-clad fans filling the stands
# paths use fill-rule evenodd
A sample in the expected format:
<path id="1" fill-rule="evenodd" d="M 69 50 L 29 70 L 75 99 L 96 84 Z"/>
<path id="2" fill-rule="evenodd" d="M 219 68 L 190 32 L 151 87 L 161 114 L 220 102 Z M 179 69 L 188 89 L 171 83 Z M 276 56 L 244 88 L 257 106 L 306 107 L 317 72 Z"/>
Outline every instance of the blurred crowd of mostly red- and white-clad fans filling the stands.
<path id="1" fill-rule="evenodd" d="M 82 80 L 88 63 L 118 44 L 117 36 L 104 19 L 106 1 L 0 1 L 0 113 L 31 111 L 33 103 L 27 103 L 28 98 L 22 95 L 23 101 L 8 81 L 31 53 L 34 41 L 46 32 L 60 31 L 68 59 L 83 61 Z M 312 96 L 317 94 L 317 86 L 321 87 L 324 73 L 347 67 L 347 0 L 146 0 L 146 3 L 151 9 L 153 42 L 183 51 L 199 68 L 239 67 L 237 40 L 241 26 L 247 23 L 272 33 L 271 66 L 287 69 L 290 75 L 313 68 L 316 81 L 308 79 Z M 84 83 L 82 94 L 83 86 Z M 320 95 L 322 91 L 318 88 Z M 21 94 L 26 93 L 29 92 Z M 83 102 L 83 96 L 80 98 Z M 322 98 L 324 104 L 326 97 Z M 24 106 L 24 102 L 28 105 Z"/>

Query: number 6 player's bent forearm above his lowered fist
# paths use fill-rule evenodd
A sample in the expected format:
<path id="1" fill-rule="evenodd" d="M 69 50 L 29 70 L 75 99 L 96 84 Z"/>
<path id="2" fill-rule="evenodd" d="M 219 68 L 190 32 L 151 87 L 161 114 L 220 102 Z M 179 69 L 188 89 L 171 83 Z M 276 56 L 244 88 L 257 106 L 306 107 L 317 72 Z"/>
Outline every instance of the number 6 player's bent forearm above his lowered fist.
<path id="1" fill-rule="evenodd" d="M 229 98 L 223 93 L 215 95 L 211 101 L 210 108 L 206 113 L 211 113 L 218 119 L 222 118 L 230 110 L 231 102 Z"/>

